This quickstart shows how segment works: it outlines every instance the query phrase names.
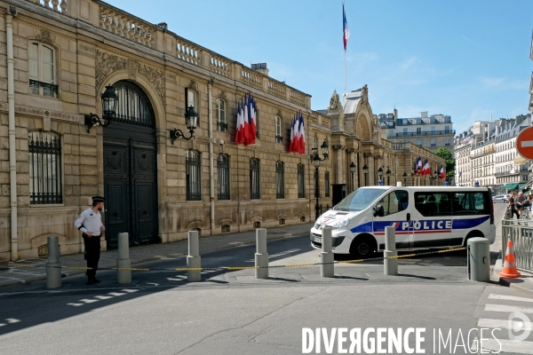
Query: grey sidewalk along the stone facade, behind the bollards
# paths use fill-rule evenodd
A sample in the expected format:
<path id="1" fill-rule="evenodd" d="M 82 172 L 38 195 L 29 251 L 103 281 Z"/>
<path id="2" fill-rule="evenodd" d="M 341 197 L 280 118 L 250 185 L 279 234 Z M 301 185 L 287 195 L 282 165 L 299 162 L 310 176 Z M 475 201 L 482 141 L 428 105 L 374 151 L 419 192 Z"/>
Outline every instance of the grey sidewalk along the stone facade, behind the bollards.
<path id="1" fill-rule="evenodd" d="M 289 238 L 292 236 L 308 234 L 313 224 L 306 223 L 303 225 L 284 225 L 282 227 L 267 229 L 267 240 Z M 225 233 L 219 235 L 210 235 L 200 238 L 200 254 L 211 250 L 222 248 L 234 248 L 245 244 L 255 243 L 255 230 L 242 233 Z M 187 256 L 188 253 L 187 239 L 174 241 L 164 244 L 149 244 L 138 247 L 130 247 L 131 264 L 139 264 L 147 261 L 163 260 L 179 256 Z M 102 251 L 100 255 L 99 267 L 116 267 L 116 258 L 118 250 Z M 60 256 L 62 266 L 86 266 L 84 254 L 70 254 Z M 46 280 L 46 256 L 35 259 L 19 260 L 14 264 L 35 264 L 37 268 L 32 267 L 6 267 L 4 263 L 0 264 L 0 288 L 26 284 Z M 62 271 L 67 276 L 85 273 L 84 270 Z"/>

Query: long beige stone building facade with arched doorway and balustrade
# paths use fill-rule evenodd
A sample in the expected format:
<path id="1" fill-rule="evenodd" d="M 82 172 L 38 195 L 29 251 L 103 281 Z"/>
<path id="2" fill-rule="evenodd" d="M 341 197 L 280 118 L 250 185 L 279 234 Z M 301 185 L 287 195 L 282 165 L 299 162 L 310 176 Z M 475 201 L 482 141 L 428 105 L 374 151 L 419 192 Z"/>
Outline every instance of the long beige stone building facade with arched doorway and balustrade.
<path id="1" fill-rule="evenodd" d="M 0 47 L 0 260 L 44 255 L 50 235 L 61 253 L 81 251 L 74 221 L 95 194 L 107 197 L 102 248 L 114 248 L 118 232 L 135 245 L 192 229 L 310 222 L 314 193 L 331 205 L 330 185 L 349 186 L 351 162 L 355 187 L 364 164 L 367 185 L 378 167 L 392 170 L 391 184 L 408 172 L 419 185 L 411 177 L 419 155 L 442 163 L 383 137 L 366 86 L 349 114 L 336 93 L 328 110 L 314 111 L 310 95 L 97 0 L 1 0 Z M 84 115 L 102 117 L 107 85 L 119 96 L 116 118 L 88 129 Z M 257 140 L 236 145 L 247 94 L 258 106 Z M 186 130 L 187 106 L 199 114 L 195 138 L 172 142 L 171 130 Z M 287 152 L 298 111 L 306 154 Z M 330 159 L 315 179 L 310 149 L 324 140 Z"/>

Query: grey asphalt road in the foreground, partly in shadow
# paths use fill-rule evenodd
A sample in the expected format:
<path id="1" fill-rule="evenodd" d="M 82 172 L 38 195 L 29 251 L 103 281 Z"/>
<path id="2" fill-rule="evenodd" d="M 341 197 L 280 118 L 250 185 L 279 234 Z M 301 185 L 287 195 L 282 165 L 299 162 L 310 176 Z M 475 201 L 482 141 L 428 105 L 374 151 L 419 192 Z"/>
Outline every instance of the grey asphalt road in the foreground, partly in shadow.
<path id="1" fill-rule="evenodd" d="M 271 241 L 268 251 L 271 265 L 320 262 L 307 236 Z M 252 265 L 254 252 L 243 246 L 208 253 L 203 266 Z M 185 265 L 173 258 L 142 266 Z M 514 308 L 533 312 L 531 297 L 466 280 L 461 252 L 401 259 L 399 270 L 394 277 L 383 275 L 378 261 L 336 264 L 336 277 L 322 279 L 319 266 L 279 267 L 269 280 L 255 280 L 253 270 L 214 271 L 199 283 L 187 283 L 184 272 L 134 272 L 127 287 L 115 283 L 115 272 L 102 271 L 98 286 L 76 276 L 53 291 L 44 282 L 4 288 L 0 353 L 296 354 L 304 327 L 424 327 L 426 353 L 466 353 L 460 337 L 472 346 L 479 334 L 467 335 L 480 322 L 500 324 Z M 434 350 L 439 331 L 459 346 Z M 509 341 L 506 332 L 498 336 Z M 521 344 L 505 343 L 502 353 L 533 353 L 532 341 L 529 335 Z M 485 347 L 498 350 L 495 341 Z"/>

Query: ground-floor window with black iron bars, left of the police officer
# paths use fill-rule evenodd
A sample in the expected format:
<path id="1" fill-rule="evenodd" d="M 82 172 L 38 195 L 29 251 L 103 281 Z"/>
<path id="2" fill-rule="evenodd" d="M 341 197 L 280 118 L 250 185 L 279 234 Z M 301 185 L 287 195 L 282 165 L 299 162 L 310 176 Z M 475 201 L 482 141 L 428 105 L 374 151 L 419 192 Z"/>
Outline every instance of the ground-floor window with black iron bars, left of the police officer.
<path id="1" fill-rule="evenodd" d="M 30 132 L 28 151 L 29 203 L 62 203 L 60 136 L 40 130 Z"/>

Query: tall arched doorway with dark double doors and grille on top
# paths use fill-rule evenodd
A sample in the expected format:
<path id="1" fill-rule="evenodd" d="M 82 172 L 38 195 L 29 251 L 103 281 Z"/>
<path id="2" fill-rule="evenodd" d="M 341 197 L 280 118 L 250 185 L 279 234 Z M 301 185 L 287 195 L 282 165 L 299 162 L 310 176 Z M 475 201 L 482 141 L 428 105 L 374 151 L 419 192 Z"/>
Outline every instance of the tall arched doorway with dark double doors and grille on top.
<path id="1" fill-rule="evenodd" d="M 117 248 L 118 233 L 133 245 L 157 241 L 155 114 L 134 83 L 113 85 L 116 119 L 104 131 L 104 191 L 107 248 Z"/>

